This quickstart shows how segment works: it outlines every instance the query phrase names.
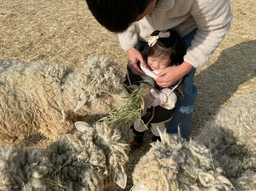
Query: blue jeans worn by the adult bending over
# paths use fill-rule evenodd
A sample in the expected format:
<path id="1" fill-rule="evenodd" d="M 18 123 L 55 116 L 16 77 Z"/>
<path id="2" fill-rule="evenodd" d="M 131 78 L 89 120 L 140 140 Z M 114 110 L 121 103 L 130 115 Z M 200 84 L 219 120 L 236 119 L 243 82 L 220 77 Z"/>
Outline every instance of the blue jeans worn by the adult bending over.
<path id="1" fill-rule="evenodd" d="M 192 32 L 182 37 L 182 44 L 186 50 L 188 47 L 191 46 L 191 41 L 194 38 L 196 30 L 197 29 L 194 29 Z M 139 51 L 142 51 L 145 45 L 145 42 L 139 41 L 137 49 Z M 190 124 L 197 94 L 197 89 L 193 84 L 195 72 L 196 68 L 193 68 L 185 77 L 184 98 L 176 103 L 173 117 L 167 126 L 167 132 L 171 134 L 178 133 L 178 126 L 180 126 L 181 136 L 183 138 L 188 137 L 188 135 L 190 134 Z"/>

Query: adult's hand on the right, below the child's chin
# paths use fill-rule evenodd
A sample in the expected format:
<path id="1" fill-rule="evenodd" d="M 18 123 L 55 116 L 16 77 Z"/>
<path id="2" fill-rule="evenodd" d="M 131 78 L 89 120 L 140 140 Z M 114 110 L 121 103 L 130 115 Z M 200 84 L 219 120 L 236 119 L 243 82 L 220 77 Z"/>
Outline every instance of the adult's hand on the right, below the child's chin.
<path id="1" fill-rule="evenodd" d="M 188 74 L 190 70 L 193 69 L 193 66 L 189 64 L 188 62 L 184 61 L 180 66 L 171 66 L 165 68 L 163 71 L 161 71 L 157 77 L 162 78 L 154 78 L 156 83 L 163 87 L 169 87 L 174 85 L 177 81 L 179 81 L 183 76 Z"/>

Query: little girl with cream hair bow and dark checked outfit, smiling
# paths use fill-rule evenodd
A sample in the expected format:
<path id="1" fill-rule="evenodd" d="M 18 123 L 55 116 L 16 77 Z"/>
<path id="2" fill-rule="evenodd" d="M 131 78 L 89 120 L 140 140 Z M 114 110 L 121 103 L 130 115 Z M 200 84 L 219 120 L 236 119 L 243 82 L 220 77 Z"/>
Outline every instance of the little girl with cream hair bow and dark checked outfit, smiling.
<path id="1" fill-rule="evenodd" d="M 133 74 L 130 67 L 127 66 L 127 75 L 125 84 L 127 86 L 139 86 L 142 81 L 148 83 L 151 87 L 151 95 L 154 102 L 147 109 L 146 114 L 142 116 L 144 124 L 137 120 L 133 128 L 135 139 L 131 143 L 131 150 L 139 148 L 143 144 L 143 136 L 146 127 L 151 124 L 153 133 L 153 142 L 160 139 L 157 127 L 163 131 L 165 122 L 170 121 L 173 115 L 175 103 L 184 96 L 184 81 L 180 80 L 175 85 L 162 88 L 155 83 L 153 78 L 168 66 L 177 66 L 183 62 L 185 54 L 180 36 L 172 30 L 154 31 L 151 36 L 147 37 L 147 45 L 142 52 L 147 68 L 137 64 L 146 75 L 139 76 Z M 156 90 L 155 90 L 156 89 Z M 159 93 L 156 91 L 160 90 Z M 146 126 L 146 127 L 145 127 Z"/>

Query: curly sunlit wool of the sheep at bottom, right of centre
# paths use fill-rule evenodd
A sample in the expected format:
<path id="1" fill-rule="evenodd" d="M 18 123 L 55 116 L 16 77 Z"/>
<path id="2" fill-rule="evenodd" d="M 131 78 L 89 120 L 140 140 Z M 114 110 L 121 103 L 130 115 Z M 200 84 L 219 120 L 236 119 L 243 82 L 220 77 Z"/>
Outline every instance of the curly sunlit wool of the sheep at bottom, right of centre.
<path id="1" fill-rule="evenodd" d="M 231 182 L 214 169 L 211 153 L 202 144 L 180 135 L 163 135 L 135 166 L 134 191 L 233 190 Z"/>

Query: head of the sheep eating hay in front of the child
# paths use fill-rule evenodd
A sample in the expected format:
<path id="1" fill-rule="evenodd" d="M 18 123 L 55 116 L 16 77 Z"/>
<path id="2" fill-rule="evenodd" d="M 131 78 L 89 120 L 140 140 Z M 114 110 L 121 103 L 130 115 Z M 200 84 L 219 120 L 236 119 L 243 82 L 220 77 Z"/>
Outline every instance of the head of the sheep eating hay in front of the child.
<path id="1" fill-rule="evenodd" d="M 112 106 L 125 104 L 128 92 L 122 73 L 115 62 L 106 57 L 95 57 L 73 79 L 73 110 L 80 114 L 106 114 Z"/>

